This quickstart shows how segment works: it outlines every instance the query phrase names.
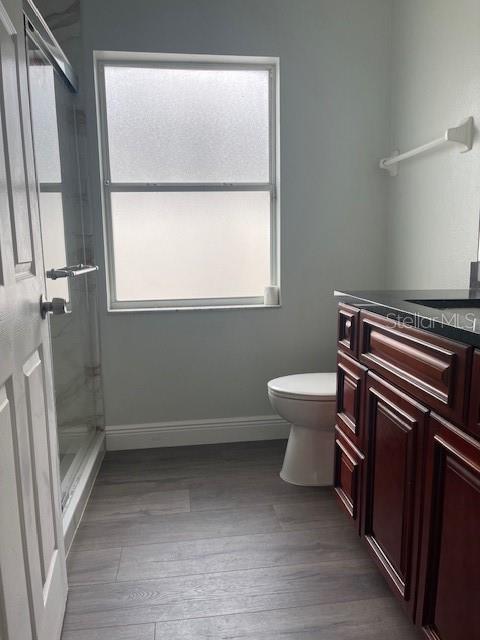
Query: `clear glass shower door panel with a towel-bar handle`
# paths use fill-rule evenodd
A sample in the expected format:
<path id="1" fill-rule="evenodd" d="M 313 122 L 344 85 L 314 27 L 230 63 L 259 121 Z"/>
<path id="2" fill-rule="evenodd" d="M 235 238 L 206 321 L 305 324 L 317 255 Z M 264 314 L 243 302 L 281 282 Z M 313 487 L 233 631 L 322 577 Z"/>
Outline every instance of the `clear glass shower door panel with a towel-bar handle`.
<path id="1" fill-rule="evenodd" d="M 29 30 L 27 29 L 27 34 Z M 45 269 L 92 262 L 79 163 L 76 93 L 30 33 L 29 89 Z M 54 61 L 53 61 L 54 62 Z M 62 506 L 96 434 L 98 359 L 93 275 L 47 279 L 47 297 L 67 302 L 50 315 Z"/>

